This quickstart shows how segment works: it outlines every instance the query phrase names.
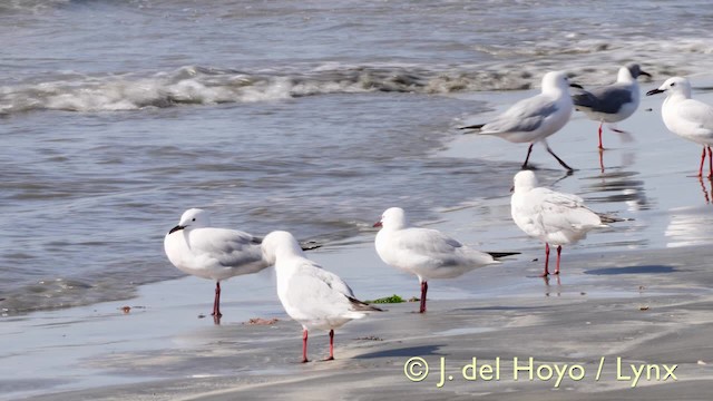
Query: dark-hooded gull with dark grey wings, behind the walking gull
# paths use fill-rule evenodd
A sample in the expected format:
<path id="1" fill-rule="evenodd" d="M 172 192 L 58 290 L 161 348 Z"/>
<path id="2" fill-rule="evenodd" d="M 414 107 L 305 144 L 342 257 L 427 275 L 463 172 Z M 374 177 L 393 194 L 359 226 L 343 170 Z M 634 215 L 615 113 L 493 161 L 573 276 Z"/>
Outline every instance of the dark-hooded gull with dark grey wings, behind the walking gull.
<path id="1" fill-rule="evenodd" d="M 577 110 L 584 111 L 589 119 L 599 121 L 599 149 L 604 150 L 602 145 L 604 123 L 622 121 L 638 108 L 641 96 L 636 78 L 639 76 L 651 77 L 651 74 L 643 71 L 637 63 L 631 63 L 619 68 L 616 82 L 589 90 L 583 89 L 579 94 L 572 96 Z M 626 134 L 615 126 L 611 129 L 618 134 Z"/>

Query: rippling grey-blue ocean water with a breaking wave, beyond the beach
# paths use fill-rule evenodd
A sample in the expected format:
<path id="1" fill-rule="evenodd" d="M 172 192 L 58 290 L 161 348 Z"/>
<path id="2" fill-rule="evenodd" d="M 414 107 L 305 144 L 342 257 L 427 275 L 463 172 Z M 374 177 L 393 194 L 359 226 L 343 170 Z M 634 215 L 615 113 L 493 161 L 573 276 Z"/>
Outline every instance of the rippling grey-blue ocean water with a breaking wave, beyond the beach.
<path id="1" fill-rule="evenodd" d="M 467 116 L 547 70 L 710 72 L 711 31 L 707 1 L 3 1 L 0 307 L 180 276 L 163 236 L 188 207 L 329 243 L 507 196 L 525 148 L 443 154 Z M 576 189 L 651 208 L 629 173 Z"/>

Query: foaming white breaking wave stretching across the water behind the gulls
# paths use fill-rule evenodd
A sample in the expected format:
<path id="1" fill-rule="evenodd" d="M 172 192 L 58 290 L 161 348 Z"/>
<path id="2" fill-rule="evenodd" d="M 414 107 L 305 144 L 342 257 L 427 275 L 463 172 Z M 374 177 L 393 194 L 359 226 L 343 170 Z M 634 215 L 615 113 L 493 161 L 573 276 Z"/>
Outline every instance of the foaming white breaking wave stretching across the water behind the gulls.
<path id="1" fill-rule="evenodd" d="M 602 85 L 615 78 L 618 66 L 632 61 L 639 62 L 655 79 L 704 72 L 713 67 L 713 62 L 682 62 L 692 55 L 713 53 L 713 45 L 697 39 L 676 39 L 675 43 L 637 39 L 635 46 L 590 40 L 560 47 L 561 43 L 547 42 L 521 49 L 480 47 L 478 51 L 507 61 L 470 66 L 326 63 L 257 71 L 186 66 L 153 75 L 62 72 L 50 80 L 33 77 L 0 87 L 0 115 L 35 110 L 123 111 L 377 91 L 446 95 L 521 90 L 538 87 L 543 71 L 553 69 L 566 70 L 587 85 Z M 652 59 L 651 55 L 657 57 Z"/>

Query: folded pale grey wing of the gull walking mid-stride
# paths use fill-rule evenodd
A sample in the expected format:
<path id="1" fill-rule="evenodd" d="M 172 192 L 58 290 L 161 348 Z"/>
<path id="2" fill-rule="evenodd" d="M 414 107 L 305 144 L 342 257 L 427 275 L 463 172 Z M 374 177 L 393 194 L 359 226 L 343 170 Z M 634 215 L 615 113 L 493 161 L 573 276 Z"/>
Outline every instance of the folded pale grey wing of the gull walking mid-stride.
<path id="1" fill-rule="evenodd" d="M 520 100 L 495 120 L 482 127 L 482 134 L 489 133 L 529 133 L 534 131 L 543 121 L 558 109 L 557 102 L 538 95 Z"/>

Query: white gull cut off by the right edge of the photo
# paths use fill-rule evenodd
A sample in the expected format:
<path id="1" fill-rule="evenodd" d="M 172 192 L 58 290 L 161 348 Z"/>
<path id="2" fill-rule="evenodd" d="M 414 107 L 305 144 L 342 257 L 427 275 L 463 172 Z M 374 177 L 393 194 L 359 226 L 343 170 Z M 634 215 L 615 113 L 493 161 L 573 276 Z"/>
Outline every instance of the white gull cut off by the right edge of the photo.
<path id="1" fill-rule="evenodd" d="M 658 89 L 646 92 L 646 96 L 666 94 L 661 108 L 661 116 L 666 128 L 672 133 L 703 145 L 699 177 L 703 177 L 705 151 L 709 153 L 709 178 L 713 178 L 713 106 L 691 99 L 691 82 L 686 78 L 668 78 Z"/>

